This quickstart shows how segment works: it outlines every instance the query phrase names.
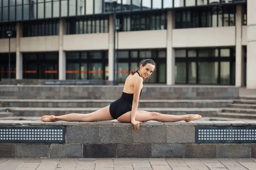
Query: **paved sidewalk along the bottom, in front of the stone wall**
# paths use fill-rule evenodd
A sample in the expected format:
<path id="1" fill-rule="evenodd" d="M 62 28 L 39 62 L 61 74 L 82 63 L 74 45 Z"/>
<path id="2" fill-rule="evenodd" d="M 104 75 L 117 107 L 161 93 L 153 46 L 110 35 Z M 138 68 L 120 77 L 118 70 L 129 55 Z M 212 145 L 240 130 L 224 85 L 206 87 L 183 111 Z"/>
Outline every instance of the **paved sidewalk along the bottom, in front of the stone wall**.
<path id="1" fill-rule="evenodd" d="M 0 158 L 0 170 L 255 170 L 256 159 Z"/>

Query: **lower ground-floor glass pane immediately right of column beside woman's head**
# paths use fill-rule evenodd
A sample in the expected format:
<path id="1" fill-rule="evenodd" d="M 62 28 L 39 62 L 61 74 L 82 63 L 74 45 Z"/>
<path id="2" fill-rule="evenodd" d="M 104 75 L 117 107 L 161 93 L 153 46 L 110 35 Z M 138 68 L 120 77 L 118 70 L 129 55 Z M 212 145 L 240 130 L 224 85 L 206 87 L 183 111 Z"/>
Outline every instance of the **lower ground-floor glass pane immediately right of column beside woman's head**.
<path id="1" fill-rule="evenodd" d="M 175 63 L 175 82 L 186 83 L 186 62 Z"/>

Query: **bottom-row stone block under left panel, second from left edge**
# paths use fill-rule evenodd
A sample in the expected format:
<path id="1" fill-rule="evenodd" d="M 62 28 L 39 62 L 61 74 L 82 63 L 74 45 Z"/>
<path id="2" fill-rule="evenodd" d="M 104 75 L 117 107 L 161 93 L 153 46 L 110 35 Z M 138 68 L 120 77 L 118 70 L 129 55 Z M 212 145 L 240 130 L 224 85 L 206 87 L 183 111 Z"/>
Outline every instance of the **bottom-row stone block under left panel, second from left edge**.
<path id="1" fill-rule="evenodd" d="M 49 144 L 30 144 L 17 143 L 16 144 L 17 158 L 49 158 Z"/>

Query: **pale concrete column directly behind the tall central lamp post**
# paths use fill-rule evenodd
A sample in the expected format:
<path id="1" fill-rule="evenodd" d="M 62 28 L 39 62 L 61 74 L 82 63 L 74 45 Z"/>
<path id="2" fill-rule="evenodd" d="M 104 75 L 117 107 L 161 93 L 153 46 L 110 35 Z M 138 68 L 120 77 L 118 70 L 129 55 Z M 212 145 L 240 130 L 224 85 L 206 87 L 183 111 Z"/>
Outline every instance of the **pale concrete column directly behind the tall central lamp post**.
<path id="1" fill-rule="evenodd" d="M 113 15 L 109 16 L 108 26 L 108 81 L 114 80 L 114 32 L 113 32 Z"/>

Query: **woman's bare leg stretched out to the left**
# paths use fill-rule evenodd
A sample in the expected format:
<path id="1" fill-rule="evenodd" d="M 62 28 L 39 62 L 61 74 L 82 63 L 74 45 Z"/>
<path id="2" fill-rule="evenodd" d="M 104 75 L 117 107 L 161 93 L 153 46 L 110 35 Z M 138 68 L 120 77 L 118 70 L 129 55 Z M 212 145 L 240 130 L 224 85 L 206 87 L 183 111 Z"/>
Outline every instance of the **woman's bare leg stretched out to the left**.
<path id="1" fill-rule="evenodd" d="M 104 120 L 113 120 L 114 118 L 111 116 L 109 112 L 109 105 L 105 108 L 101 108 L 98 111 L 81 114 L 81 113 L 70 113 L 61 116 L 42 116 L 40 118 L 41 121 L 46 122 L 54 122 L 58 120 L 63 121 L 79 121 L 79 122 L 93 122 L 93 121 L 104 121 Z"/>

